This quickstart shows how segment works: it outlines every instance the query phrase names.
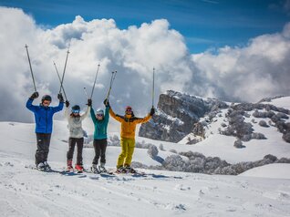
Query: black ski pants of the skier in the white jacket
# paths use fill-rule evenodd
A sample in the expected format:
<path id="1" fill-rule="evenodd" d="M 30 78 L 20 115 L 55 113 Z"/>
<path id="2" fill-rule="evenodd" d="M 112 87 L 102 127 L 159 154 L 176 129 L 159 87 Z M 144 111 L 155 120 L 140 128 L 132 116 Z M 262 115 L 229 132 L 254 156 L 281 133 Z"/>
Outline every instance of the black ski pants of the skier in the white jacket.
<path id="1" fill-rule="evenodd" d="M 77 144 L 77 164 L 83 165 L 83 147 L 84 138 L 69 138 L 68 139 L 68 150 L 67 150 L 67 160 L 72 160 L 74 157 L 75 146 Z"/>

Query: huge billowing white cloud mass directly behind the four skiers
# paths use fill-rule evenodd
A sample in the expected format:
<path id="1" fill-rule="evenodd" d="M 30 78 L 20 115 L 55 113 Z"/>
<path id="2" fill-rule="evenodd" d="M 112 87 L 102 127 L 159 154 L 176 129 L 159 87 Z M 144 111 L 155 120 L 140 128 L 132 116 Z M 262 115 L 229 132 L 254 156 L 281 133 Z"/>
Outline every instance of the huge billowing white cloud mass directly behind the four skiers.
<path id="1" fill-rule="evenodd" d="M 12 25 L 13 24 L 13 25 Z M 94 107 L 102 107 L 111 72 L 117 77 L 111 91 L 112 107 L 120 114 L 127 105 L 137 115 L 150 111 L 152 68 L 156 68 L 156 96 L 174 88 L 182 91 L 192 76 L 183 36 L 170 29 L 165 19 L 119 29 L 113 19 L 85 21 L 77 15 L 72 23 L 43 29 L 21 9 L 0 7 L 2 120 L 32 120 L 25 109 L 34 88 L 26 57 L 29 47 L 36 88 L 40 95 L 51 94 L 57 104 L 59 81 L 53 65 L 62 73 L 67 47 L 70 53 L 64 87 L 71 104 L 85 106 L 100 64 Z M 173 84 L 173 86 L 172 86 Z M 155 104 L 158 98 L 156 97 Z M 36 103 L 40 99 L 36 100 Z M 21 112 L 19 112 L 19 109 Z"/>

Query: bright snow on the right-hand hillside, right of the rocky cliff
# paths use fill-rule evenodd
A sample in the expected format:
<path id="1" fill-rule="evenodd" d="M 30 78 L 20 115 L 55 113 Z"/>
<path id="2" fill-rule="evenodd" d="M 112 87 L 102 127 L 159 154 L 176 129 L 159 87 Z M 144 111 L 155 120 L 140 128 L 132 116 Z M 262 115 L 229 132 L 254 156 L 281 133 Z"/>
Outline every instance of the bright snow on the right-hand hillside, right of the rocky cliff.
<path id="1" fill-rule="evenodd" d="M 271 102 L 267 102 L 267 104 L 290 109 L 290 97 L 275 98 Z M 224 136 L 219 133 L 219 129 L 223 129 L 222 123 L 225 122 L 227 124 L 225 116 L 227 110 L 228 109 L 222 109 L 221 113 L 207 126 L 205 140 L 194 145 L 187 145 L 184 150 L 198 151 L 205 156 L 220 157 L 229 163 L 261 160 L 267 154 L 273 154 L 277 158 L 290 158 L 290 144 L 282 139 L 283 134 L 278 132 L 277 128 L 274 126 L 269 126 L 268 128 L 261 127 L 258 124 L 260 119 L 256 119 L 252 115 L 254 111 L 248 112 L 250 117 L 245 118 L 244 121 L 253 125 L 254 132 L 263 133 L 266 140 L 250 140 L 243 142 L 245 146 L 244 149 L 236 149 L 233 147 L 236 138 Z M 289 115 L 288 117 L 290 118 Z M 255 119 L 255 122 L 253 122 L 252 119 Z M 270 119 L 264 120 L 268 122 Z M 286 122 L 289 122 L 289 120 Z M 191 134 L 187 137 L 193 138 Z M 181 140 L 179 144 L 186 144 L 188 141 L 187 137 Z"/>

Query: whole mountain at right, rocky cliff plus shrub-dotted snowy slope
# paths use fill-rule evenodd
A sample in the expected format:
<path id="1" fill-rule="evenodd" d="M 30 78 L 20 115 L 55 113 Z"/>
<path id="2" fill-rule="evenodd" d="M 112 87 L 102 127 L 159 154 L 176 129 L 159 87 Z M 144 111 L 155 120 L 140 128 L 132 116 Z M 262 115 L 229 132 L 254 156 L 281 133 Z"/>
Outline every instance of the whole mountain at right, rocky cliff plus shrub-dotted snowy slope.
<path id="1" fill-rule="evenodd" d="M 284 104 L 281 106 L 279 101 Z M 161 94 L 157 114 L 142 124 L 139 135 L 195 144 L 212 134 L 222 134 L 234 137 L 234 146 L 243 148 L 243 142 L 267 140 L 271 135 L 264 133 L 272 134 L 275 130 L 290 143 L 289 105 L 290 97 L 264 98 L 258 103 L 229 103 L 169 90 Z"/>

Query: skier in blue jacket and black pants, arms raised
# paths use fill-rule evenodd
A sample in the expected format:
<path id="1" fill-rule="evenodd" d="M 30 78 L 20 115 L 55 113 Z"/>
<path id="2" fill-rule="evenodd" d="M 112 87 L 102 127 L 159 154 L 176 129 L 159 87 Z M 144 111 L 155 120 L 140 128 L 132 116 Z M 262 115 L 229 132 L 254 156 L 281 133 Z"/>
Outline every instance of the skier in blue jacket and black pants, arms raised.
<path id="1" fill-rule="evenodd" d="M 63 109 L 64 98 L 61 93 L 57 95 L 59 99 L 57 107 L 49 107 L 51 103 L 51 97 L 49 95 L 42 97 L 39 106 L 32 105 L 33 100 L 38 98 L 38 96 L 38 92 L 33 93 L 26 102 L 26 108 L 35 114 L 37 140 L 36 168 L 41 171 L 49 171 L 50 167 L 47 163 L 47 156 L 53 128 L 53 116 L 57 111 Z"/>

